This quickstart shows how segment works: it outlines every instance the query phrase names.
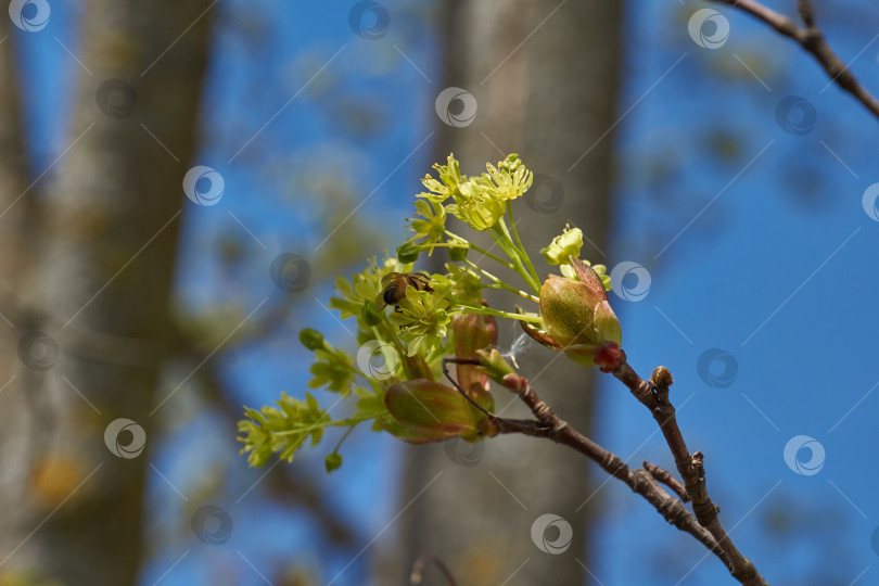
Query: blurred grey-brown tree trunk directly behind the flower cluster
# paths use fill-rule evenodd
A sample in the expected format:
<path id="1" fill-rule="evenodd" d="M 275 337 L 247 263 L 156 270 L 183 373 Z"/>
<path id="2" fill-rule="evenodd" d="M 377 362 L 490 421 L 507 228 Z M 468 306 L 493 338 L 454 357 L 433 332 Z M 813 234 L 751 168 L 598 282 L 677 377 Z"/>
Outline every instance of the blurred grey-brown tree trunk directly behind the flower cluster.
<path id="1" fill-rule="evenodd" d="M 595 143 L 614 122 L 621 3 L 468 0 L 445 2 L 443 10 L 446 71 L 436 93 L 449 86 L 466 89 L 476 98 L 479 110 L 468 127 L 440 124 L 437 160 L 454 151 L 462 173 L 479 174 L 485 162 L 519 152 L 542 175 L 533 188 L 540 212 L 517 206 L 528 251 L 539 258 L 536 251 L 569 221 L 603 250 L 613 136 Z M 551 190 L 558 188 L 563 190 L 561 201 L 552 200 Z M 588 243 L 583 257 L 604 262 Z M 547 270 L 540 266 L 545 267 L 539 263 L 538 272 Z M 500 343 L 507 347 L 520 333 L 518 328 L 501 332 Z M 557 412 L 588 434 L 593 372 L 545 348 L 531 349 L 520 365 Z M 502 390 L 495 396 L 498 410 L 512 398 Z M 505 411 L 511 417 L 525 415 L 518 404 Z M 411 504 L 398 521 L 402 559 L 388 570 L 397 572 L 393 579 L 382 583 L 398 583 L 423 553 L 438 556 L 462 585 L 585 582 L 578 562 L 589 563 L 589 508 L 583 504 L 591 489 L 589 468 L 581 456 L 524 436 L 476 446 L 407 447 L 407 454 L 399 506 Z M 544 513 L 558 514 L 572 525 L 574 538 L 564 553 L 546 553 L 532 540 L 532 524 Z M 547 539 L 557 536 L 557 530 L 547 530 Z M 445 584 L 432 570 L 424 583 Z"/>

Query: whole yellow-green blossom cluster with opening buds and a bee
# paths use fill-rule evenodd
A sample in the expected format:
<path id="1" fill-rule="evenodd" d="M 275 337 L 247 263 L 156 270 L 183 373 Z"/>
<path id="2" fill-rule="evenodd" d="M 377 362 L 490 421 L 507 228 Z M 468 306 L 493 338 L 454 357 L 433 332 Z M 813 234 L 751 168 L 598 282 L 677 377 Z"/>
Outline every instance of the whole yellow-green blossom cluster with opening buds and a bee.
<path id="1" fill-rule="evenodd" d="M 340 311 L 341 319 L 357 321 L 359 348 L 335 348 L 308 328 L 300 334 L 302 344 L 314 352 L 308 386 L 349 395 L 353 409 L 333 419 L 308 393 L 303 399 L 283 394 L 275 406 L 259 410 L 245 408 L 239 441 L 252 466 L 265 464 L 272 454 L 290 460 L 307 440 L 314 445 L 324 429 L 341 428 L 347 431 L 324 460 L 330 472 L 342 464 L 340 446 L 348 432 L 365 422 L 373 431 L 417 444 L 495 435 L 494 420 L 480 410 L 494 406 L 489 378 L 513 388 L 517 377 L 497 349 L 495 318 L 519 320 L 532 337 L 582 365 L 594 362 L 599 345 L 620 343 L 619 321 L 604 292 L 610 279 L 602 265 L 589 268 L 578 260 L 584 240 L 579 229 L 565 227 L 540 251 L 564 278 L 540 279 L 528 257 L 510 203 L 531 188 L 534 178 L 518 155 L 487 164 L 479 176 L 461 175 L 454 155 L 433 169 L 435 176 L 422 179 L 426 191 L 418 194 L 415 217 L 409 219 L 415 235 L 397 249 L 396 257 L 372 257 L 351 279 L 335 281 L 330 307 Z M 480 242 L 447 230 L 449 215 L 486 232 L 494 244 L 482 249 Z M 446 273 L 412 273 L 419 255 L 437 247 L 448 250 Z M 487 270 L 483 263 L 496 263 L 502 272 L 496 272 L 497 267 Z M 521 283 L 509 282 L 505 273 L 510 271 L 521 277 L 526 291 Z M 540 313 L 489 307 L 483 301 L 486 288 L 539 304 Z M 479 368 L 458 365 L 461 394 L 440 381 L 443 359 L 453 354 L 480 361 Z M 372 361 L 382 357 L 385 364 L 379 368 Z"/>

